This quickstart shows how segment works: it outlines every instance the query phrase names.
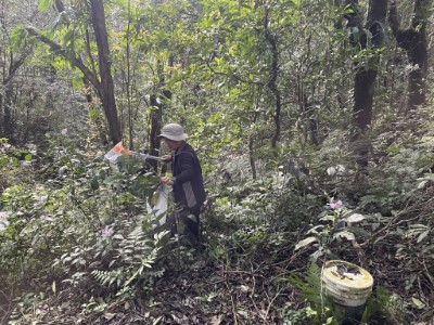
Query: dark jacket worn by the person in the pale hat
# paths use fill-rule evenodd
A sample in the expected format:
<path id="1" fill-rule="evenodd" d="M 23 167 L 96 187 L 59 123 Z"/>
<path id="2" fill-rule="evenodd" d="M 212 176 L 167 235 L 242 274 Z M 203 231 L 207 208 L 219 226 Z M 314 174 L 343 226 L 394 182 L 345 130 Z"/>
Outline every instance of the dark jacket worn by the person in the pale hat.
<path id="1" fill-rule="evenodd" d="M 196 153 L 188 143 L 182 143 L 175 152 L 171 172 L 175 203 L 188 208 L 192 214 L 199 216 L 206 194 L 201 164 Z"/>

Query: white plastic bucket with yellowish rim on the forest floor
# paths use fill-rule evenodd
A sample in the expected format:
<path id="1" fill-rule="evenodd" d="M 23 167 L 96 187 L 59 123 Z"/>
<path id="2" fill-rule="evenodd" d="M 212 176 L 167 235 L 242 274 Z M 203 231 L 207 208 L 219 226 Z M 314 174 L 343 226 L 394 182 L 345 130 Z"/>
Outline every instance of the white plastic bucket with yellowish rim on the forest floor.
<path id="1" fill-rule="evenodd" d="M 321 274 L 326 292 L 344 311 L 344 324 L 359 324 L 373 278 L 365 269 L 340 260 L 327 261 Z M 352 323 L 354 322 L 354 323 Z"/>

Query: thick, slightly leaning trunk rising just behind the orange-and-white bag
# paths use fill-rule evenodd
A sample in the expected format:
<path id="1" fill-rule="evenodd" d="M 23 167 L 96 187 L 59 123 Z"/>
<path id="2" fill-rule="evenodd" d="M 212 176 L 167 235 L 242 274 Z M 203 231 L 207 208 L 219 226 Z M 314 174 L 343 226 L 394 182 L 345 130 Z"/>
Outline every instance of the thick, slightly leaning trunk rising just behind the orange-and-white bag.
<path id="1" fill-rule="evenodd" d="M 110 57 L 108 37 L 105 25 L 105 13 L 102 0 L 91 0 L 92 26 L 98 46 L 98 60 L 101 76 L 100 87 L 97 91 L 100 95 L 102 106 L 108 123 L 110 138 L 113 144 L 122 140 L 120 123 L 117 117 L 114 84 L 112 78 L 112 61 Z"/>

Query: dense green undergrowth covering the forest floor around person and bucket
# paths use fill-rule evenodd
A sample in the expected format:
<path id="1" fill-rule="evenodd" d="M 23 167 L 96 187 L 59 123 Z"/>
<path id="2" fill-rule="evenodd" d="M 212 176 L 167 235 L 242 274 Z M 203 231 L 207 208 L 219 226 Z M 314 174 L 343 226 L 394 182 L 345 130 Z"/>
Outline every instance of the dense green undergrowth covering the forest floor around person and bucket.
<path id="1" fill-rule="evenodd" d="M 362 170 L 344 135 L 256 180 L 232 161 L 230 179 L 208 176 L 201 248 L 152 226 L 158 181 L 139 161 L 111 166 L 66 134 L 3 141 L 0 323 L 340 324 L 319 274 L 344 259 L 374 277 L 363 324 L 431 324 L 434 134 L 421 130 L 374 134 Z"/>

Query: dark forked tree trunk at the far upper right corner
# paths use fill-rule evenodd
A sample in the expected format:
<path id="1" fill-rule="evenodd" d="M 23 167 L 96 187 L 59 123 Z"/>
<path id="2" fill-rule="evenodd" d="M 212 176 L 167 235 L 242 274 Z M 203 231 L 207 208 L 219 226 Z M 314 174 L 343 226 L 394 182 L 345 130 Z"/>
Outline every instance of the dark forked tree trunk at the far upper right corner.
<path id="1" fill-rule="evenodd" d="M 426 24 L 431 16 L 432 0 L 416 0 L 413 17 L 408 29 L 401 29 L 398 21 L 396 1 L 390 10 L 390 25 L 398 46 L 406 50 L 413 69 L 408 76 L 408 98 L 406 113 L 426 102 L 427 38 Z"/>

